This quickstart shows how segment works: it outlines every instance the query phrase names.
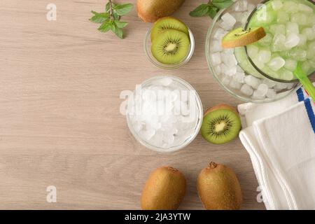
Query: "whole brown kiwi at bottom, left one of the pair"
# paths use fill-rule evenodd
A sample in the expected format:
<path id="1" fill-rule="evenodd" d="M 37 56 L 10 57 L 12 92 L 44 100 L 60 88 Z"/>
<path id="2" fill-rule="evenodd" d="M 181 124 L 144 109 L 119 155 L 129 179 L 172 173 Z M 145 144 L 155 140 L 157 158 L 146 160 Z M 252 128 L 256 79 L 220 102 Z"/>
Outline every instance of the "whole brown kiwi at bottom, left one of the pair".
<path id="1" fill-rule="evenodd" d="M 185 194 L 185 176 L 173 167 L 159 167 L 146 181 L 141 195 L 141 209 L 176 210 Z"/>

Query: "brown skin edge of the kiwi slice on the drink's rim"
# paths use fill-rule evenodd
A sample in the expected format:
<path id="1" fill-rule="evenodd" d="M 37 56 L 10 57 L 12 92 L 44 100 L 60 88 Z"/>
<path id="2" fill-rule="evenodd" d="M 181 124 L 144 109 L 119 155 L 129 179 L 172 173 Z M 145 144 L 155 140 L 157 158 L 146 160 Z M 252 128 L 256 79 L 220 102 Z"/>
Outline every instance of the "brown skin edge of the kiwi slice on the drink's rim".
<path id="1" fill-rule="evenodd" d="M 265 29 L 260 27 L 255 32 L 244 35 L 243 37 L 237 40 L 222 41 L 222 47 L 223 48 L 237 48 L 244 45 L 249 45 L 251 43 L 255 43 L 256 41 L 259 41 L 261 38 L 264 38 L 265 36 L 266 36 Z"/>

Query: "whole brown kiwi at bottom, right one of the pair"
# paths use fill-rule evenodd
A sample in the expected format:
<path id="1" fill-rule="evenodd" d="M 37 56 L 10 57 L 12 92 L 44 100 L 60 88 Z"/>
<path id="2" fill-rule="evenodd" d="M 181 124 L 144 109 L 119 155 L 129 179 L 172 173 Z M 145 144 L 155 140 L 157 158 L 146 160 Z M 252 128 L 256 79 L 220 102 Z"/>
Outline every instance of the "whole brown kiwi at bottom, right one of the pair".
<path id="1" fill-rule="evenodd" d="M 207 210 L 239 210 L 241 186 L 235 173 L 225 165 L 210 162 L 197 179 L 197 191 Z"/>

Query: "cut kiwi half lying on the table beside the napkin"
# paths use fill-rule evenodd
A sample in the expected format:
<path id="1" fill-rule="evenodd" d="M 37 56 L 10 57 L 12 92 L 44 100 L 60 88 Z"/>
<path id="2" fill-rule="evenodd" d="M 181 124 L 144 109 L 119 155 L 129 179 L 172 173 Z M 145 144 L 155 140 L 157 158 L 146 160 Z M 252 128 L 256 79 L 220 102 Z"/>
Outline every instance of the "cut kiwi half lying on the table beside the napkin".
<path id="1" fill-rule="evenodd" d="M 212 144 L 225 144 L 232 141 L 241 130 L 241 120 L 232 106 L 225 104 L 206 111 L 202 120 L 202 137 Z"/>

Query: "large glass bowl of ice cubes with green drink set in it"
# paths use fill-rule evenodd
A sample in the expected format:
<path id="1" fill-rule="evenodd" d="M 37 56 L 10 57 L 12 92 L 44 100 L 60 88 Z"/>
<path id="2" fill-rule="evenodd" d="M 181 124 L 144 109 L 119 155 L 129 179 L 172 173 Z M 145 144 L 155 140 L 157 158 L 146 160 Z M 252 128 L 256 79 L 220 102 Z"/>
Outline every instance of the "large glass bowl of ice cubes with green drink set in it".
<path id="1" fill-rule="evenodd" d="M 264 6 L 263 21 L 258 22 L 253 13 Z M 315 70 L 313 6 L 309 0 L 238 0 L 218 12 L 207 34 L 206 55 L 209 69 L 223 89 L 237 99 L 255 103 L 274 102 L 295 92 L 300 87 L 293 76 L 297 62 L 310 75 Z M 303 14 L 308 15 L 305 21 Z M 225 34 L 251 23 L 262 26 L 267 35 L 245 47 L 221 47 Z"/>

